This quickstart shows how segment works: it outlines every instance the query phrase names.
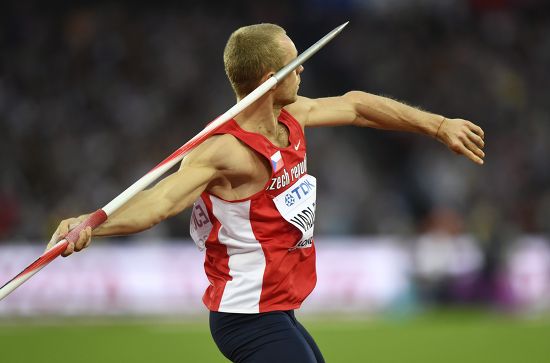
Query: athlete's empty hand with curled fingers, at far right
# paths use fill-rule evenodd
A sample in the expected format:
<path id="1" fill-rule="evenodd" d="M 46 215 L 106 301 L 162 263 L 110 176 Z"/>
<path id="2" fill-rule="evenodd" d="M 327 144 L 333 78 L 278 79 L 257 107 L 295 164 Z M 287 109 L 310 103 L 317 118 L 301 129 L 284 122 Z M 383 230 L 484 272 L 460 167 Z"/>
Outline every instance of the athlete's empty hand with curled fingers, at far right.
<path id="1" fill-rule="evenodd" d="M 485 153 L 481 127 L 462 119 L 443 119 L 436 138 L 457 154 L 466 156 L 474 163 L 483 164 Z"/>

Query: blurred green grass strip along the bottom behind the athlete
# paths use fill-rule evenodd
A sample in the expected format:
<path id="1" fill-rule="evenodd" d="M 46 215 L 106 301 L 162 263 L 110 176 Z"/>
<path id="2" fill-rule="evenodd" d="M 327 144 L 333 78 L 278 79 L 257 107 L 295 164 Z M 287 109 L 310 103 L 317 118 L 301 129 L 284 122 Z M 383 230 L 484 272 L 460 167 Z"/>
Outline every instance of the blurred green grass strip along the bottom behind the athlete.
<path id="1" fill-rule="evenodd" d="M 550 319 L 447 311 L 304 317 L 327 362 L 548 363 Z M 0 362 L 227 362 L 206 320 L 0 320 Z"/>

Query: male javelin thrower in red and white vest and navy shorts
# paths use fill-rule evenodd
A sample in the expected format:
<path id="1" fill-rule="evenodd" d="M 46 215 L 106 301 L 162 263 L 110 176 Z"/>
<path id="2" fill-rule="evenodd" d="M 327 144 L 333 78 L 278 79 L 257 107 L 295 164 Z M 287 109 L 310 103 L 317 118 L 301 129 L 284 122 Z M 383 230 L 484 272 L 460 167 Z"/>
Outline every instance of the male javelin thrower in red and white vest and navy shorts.
<path id="1" fill-rule="evenodd" d="M 294 43 L 277 25 L 235 31 L 224 64 L 237 99 L 296 56 Z M 485 156 L 483 130 L 469 121 L 360 91 L 300 97 L 303 70 L 297 68 L 194 149 L 177 172 L 137 194 L 93 231 L 94 236 L 136 233 L 193 206 L 191 236 L 206 249 L 210 285 L 203 301 L 211 333 L 233 362 L 324 362 L 294 316 L 316 282 L 317 183 L 307 173 L 306 126 L 418 132 L 478 164 Z M 49 247 L 86 216 L 62 221 Z M 88 247 L 91 237 L 88 227 L 63 256 Z"/>

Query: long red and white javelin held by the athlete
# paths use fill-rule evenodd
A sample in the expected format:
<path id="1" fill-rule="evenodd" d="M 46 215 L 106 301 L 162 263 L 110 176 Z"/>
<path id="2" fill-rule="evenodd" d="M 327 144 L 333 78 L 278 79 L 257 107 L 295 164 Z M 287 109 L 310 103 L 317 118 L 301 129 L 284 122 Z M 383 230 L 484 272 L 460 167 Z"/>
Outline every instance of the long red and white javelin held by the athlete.
<path id="1" fill-rule="evenodd" d="M 344 29 L 346 25 L 348 25 L 348 23 L 349 22 L 346 22 L 334 28 L 330 33 L 318 40 L 315 44 L 305 50 L 289 64 L 281 68 L 277 73 L 275 73 L 268 80 L 258 86 L 258 88 L 249 93 L 245 98 L 237 102 L 237 104 L 227 110 L 223 115 L 219 116 L 210 124 L 208 124 L 201 132 L 195 135 L 191 140 L 189 140 L 179 149 L 174 151 L 172 155 L 161 161 L 157 166 L 151 169 L 151 171 L 149 171 L 147 174 L 137 180 L 134 184 L 128 187 L 128 189 L 123 191 L 106 206 L 90 214 L 90 216 L 86 220 L 82 221 L 76 228 L 71 230 L 64 239 L 57 242 L 52 248 L 44 252 L 42 256 L 40 256 L 36 261 L 31 263 L 17 276 L 5 283 L 2 287 L 0 287 L 0 300 L 8 296 L 13 290 L 15 290 L 28 279 L 30 279 L 35 273 L 44 268 L 56 257 L 61 255 L 61 253 L 65 251 L 69 243 L 75 243 L 76 241 L 78 241 L 80 231 L 87 227 L 92 227 L 93 230 L 103 224 L 103 222 L 105 222 L 111 214 L 113 214 L 117 209 L 128 202 L 128 200 L 130 200 L 134 195 L 147 188 L 152 182 L 157 180 L 161 175 L 168 171 L 168 169 L 170 169 L 172 166 L 182 160 L 185 155 L 187 155 L 193 148 L 195 148 L 197 145 L 199 145 L 209 136 L 211 136 L 214 131 L 219 129 L 224 123 L 241 113 L 245 108 L 250 106 L 258 98 L 262 97 L 267 91 L 273 88 L 280 80 L 285 78 L 292 71 L 302 65 L 302 63 L 308 60 L 312 55 L 317 53 L 319 49 L 323 48 L 336 35 L 338 35 L 342 31 L 342 29 Z"/>

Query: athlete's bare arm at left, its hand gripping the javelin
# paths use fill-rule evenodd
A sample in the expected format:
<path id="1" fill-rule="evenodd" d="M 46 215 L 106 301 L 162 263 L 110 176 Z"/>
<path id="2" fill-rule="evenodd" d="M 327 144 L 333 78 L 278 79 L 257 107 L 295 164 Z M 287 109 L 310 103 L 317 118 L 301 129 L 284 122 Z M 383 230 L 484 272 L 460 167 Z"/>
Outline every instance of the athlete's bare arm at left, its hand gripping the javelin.
<path id="1" fill-rule="evenodd" d="M 127 235 L 149 229 L 159 222 L 190 207 L 209 183 L 220 175 L 220 147 L 209 139 L 199 145 L 185 159 L 179 170 L 143 190 L 109 216 L 93 232 L 90 227 L 81 231 L 79 240 L 70 243 L 62 253 L 66 257 L 88 247 L 93 236 Z M 88 214 L 63 220 L 48 244 L 51 248 L 75 228 Z"/>

